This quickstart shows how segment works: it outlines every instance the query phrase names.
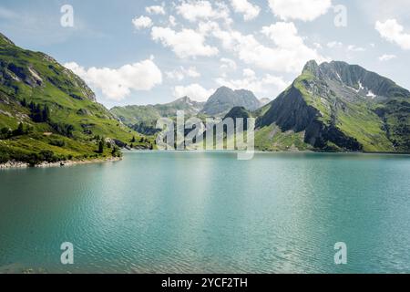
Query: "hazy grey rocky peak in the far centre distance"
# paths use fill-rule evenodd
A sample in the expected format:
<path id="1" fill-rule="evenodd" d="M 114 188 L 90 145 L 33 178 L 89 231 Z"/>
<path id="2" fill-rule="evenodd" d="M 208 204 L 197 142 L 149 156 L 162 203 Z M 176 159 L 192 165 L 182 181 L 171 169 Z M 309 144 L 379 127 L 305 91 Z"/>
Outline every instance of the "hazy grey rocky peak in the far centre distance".
<path id="1" fill-rule="evenodd" d="M 261 102 L 249 90 L 232 90 L 221 87 L 210 96 L 201 112 L 209 116 L 223 116 L 235 107 L 257 110 L 261 107 Z"/>

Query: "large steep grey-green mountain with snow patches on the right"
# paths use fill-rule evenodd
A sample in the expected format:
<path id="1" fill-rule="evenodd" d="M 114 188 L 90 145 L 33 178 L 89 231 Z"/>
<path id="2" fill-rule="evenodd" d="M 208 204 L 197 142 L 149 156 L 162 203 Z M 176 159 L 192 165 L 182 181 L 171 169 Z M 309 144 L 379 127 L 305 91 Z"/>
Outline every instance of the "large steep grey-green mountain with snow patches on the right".
<path id="1" fill-rule="evenodd" d="M 410 92 L 357 65 L 310 61 L 259 114 L 265 150 L 410 151 Z"/>

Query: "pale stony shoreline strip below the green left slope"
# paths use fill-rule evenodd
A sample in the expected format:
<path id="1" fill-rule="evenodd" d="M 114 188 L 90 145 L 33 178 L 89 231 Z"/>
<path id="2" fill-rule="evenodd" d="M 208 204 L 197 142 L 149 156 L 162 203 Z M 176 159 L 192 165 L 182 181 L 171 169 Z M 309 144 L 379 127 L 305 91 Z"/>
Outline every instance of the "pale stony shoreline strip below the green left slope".
<path id="1" fill-rule="evenodd" d="M 122 160 L 122 157 L 109 157 L 104 159 L 92 159 L 84 161 L 64 161 L 64 162 L 42 162 L 36 165 L 30 165 L 26 162 L 5 162 L 0 164 L 0 170 L 9 170 L 9 169 L 27 169 L 27 168 L 48 168 L 48 167 L 66 167 L 74 166 L 80 164 L 91 164 L 91 163 L 103 163 L 103 162 L 119 162 Z"/>

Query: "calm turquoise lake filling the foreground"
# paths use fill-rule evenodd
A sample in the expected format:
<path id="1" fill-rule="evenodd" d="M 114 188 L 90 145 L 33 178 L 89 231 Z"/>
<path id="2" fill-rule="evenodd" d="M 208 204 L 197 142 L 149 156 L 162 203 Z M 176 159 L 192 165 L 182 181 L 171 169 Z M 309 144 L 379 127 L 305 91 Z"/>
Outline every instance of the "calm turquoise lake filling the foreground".
<path id="1" fill-rule="evenodd" d="M 27 270 L 410 273 L 410 156 L 135 151 L 0 171 L 0 273 Z"/>

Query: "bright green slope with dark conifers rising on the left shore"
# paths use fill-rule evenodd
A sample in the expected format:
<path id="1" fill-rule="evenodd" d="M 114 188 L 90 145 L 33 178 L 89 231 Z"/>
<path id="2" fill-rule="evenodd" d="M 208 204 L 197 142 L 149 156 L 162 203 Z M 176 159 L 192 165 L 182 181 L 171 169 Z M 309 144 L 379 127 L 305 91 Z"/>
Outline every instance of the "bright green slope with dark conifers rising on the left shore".
<path id="1" fill-rule="evenodd" d="M 81 78 L 0 35 L 0 162 L 108 157 L 102 137 L 124 145 L 133 136 Z"/>

